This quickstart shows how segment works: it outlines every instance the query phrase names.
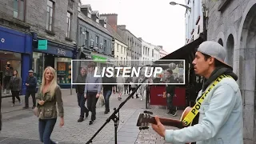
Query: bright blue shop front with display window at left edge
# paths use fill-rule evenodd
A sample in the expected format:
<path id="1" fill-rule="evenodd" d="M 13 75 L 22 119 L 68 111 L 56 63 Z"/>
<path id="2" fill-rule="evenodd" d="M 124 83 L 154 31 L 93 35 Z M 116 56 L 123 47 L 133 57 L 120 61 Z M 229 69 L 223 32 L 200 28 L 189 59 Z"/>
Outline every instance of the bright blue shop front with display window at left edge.
<path id="1" fill-rule="evenodd" d="M 10 77 L 18 70 L 22 78 L 21 94 L 25 94 L 25 81 L 30 70 L 32 37 L 16 30 L 0 26 L 0 85 L 2 97 L 10 96 Z"/>

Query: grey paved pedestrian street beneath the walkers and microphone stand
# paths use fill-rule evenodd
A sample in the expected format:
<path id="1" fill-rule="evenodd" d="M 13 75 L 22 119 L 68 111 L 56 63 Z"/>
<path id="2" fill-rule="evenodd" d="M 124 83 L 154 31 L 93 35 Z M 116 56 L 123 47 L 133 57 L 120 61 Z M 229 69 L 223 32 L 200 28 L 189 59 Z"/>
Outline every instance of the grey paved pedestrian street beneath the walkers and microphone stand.
<path id="1" fill-rule="evenodd" d="M 73 94 L 74 91 L 73 91 Z M 104 106 L 97 105 L 96 121 L 89 126 L 89 118 L 84 122 L 77 122 L 79 109 L 77 98 L 70 95 L 70 90 L 62 90 L 64 109 L 65 109 L 65 126 L 60 128 L 58 122 L 55 125 L 51 138 L 59 143 L 86 143 L 94 133 L 102 126 L 106 119 L 112 114 L 114 106 L 118 106 L 127 96 L 118 101 L 117 95 L 113 94 L 110 98 L 111 111 L 104 114 Z M 24 102 L 24 96 L 22 96 Z M 31 104 L 30 98 L 30 106 Z M 22 110 L 22 106 L 11 107 L 11 98 L 2 99 L 2 118 L 3 126 L 0 135 L 0 143 L 41 143 L 38 141 L 38 118 L 36 118 L 32 109 Z M 165 109 L 151 107 L 150 111 L 155 114 L 166 116 Z M 118 143 L 164 143 L 163 139 L 158 136 L 151 128 L 149 130 L 138 130 L 136 126 L 138 114 L 145 110 L 145 101 L 140 99 L 130 99 L 120 110 L 120 123 L 118 126 Z M 176 118 L 179 118 L 181 112 Z M 114 122 L 110 121 L 102 131 L 93 139 L 92 143 L 114 143 Z"/>

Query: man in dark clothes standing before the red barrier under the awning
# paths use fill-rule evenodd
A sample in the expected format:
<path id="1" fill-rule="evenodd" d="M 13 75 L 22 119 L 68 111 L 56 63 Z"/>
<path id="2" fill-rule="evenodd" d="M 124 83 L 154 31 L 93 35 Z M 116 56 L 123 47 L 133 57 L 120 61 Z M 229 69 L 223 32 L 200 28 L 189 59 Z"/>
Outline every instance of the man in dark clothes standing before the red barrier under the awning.
<path id="1" fill-rule="evenodd" d="M 175 94 L 175 86 L 168 85 L 167 83 L 175 83 L 173 70 L 166 70 L 166 100 L 167 100 L 167 107 L 168 107 L 168 113 L 167 115 L 175 116 L 177 114 L 177 109 L 175 106 L 173 106 L 173 98 Z"/>

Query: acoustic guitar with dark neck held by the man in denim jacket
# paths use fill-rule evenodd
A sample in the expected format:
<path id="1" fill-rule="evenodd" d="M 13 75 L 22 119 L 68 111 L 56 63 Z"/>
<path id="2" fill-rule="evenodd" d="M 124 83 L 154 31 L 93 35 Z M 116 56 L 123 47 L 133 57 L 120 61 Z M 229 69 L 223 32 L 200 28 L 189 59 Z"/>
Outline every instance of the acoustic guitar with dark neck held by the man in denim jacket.
<path id="1" fill-rule="evenodd" d="M 171 119 L 171 118 L 159 118 L 160 122 L 164 126 L 174 126 L 174 127 L 179 128 L 179 129 L 191 126 L 192 122 L 190 122 L 190 125 L 188 125 L 188 126 L 186 126 L 184 124 L 184 122 L 182 122 L 183 119 L 186 117 L 186 114 L 188 114 L 191 109 L 192 109 L 192 107 L 190 107 L 190 106 L 186 107 L 186 109 L 182 113 L 182 117 L 181 117 L 180 120 Z M 157 124 L 157 122 L 155 121 L 155 118 L 153 116 L 151 116 L 149 114 L 149 112 L 144 111 L 144 113 L 141 113 L 141 114 L 138 115 L 137 126 L 140 127 L 140 130 L 147 129 L 150 123 Z M 186 143 L 186 144 L 191 144 L 191 143 L 192 142 Z"/>

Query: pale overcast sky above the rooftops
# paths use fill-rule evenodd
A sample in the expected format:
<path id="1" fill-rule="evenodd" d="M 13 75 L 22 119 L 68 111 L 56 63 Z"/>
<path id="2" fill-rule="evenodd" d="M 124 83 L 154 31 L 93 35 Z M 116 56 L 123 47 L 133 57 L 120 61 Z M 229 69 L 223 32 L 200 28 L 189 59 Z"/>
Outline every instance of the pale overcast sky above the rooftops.
<path id="1" fill-rule="evenodd" d="M 118 14 L 118 25 L 126 25 L 137 38 L 168 53 L 185 45 L 185 12 L 182 6 L 170 6 L 172 0 L 82 0 L 100 14 Z M 185 0 L 173 0 L 184 4 Z"/>

